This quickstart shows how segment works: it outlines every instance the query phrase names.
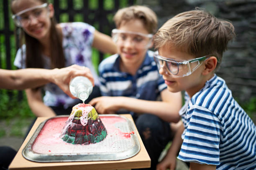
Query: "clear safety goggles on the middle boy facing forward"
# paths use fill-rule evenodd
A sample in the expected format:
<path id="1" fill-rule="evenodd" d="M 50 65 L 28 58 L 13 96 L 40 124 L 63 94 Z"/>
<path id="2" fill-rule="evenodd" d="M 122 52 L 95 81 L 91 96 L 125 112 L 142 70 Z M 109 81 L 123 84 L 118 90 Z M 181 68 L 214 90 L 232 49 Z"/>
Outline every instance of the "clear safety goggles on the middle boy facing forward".
<path id="1" fill-rule="evenodd" d="M 140 49 L 146 49 L 150 47 L 153 40 L 153 34 L 143 34 L 140 32 L 124 31 L 118 29 L 113 29 L 111 35 L 113 41 L 117 45 L 131 45 Z"/>

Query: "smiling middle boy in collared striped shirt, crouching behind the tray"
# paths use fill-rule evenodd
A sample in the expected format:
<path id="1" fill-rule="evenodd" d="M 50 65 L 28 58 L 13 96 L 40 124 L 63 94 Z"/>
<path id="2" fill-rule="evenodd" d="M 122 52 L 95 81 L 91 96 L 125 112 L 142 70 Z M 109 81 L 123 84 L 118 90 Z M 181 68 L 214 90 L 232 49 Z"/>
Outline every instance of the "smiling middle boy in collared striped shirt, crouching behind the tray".
<path id="1" fill-rule="evenodd" d="M 181 92 L 169 92 L 159 74 L 153 52 L 153 34 L 157 30 L 156 14 L 144 6 L 118 10 L 114 16 L 117 29 L 112 31 L 118 54 L 99 65 L 100 91 L 89 104 L 98 113 L 130 113 L 151 158 L 151 170 L 171 140 L 169 122 L 178 122 L 182 106 Z M 158 98 L 161 101 L 156 101 Z"/>

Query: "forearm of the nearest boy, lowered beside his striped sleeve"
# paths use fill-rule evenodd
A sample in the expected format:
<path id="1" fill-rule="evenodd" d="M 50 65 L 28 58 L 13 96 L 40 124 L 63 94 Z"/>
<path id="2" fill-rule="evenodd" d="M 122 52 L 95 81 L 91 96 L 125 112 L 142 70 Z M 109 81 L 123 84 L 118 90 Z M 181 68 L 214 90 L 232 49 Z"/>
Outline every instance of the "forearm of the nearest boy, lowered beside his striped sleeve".
<path id="1" fill-rule="evenodd" d="M 164 159 L 156 166 L 156 170 L 175 170 L 177 154 L 183 142 L 181 138 L 183 131 L 184 125 L 181 120 L 176 123 L 175 126 L 172 126 L 172 132 L 175 133 L 172 145 L 167 151 Z"/>

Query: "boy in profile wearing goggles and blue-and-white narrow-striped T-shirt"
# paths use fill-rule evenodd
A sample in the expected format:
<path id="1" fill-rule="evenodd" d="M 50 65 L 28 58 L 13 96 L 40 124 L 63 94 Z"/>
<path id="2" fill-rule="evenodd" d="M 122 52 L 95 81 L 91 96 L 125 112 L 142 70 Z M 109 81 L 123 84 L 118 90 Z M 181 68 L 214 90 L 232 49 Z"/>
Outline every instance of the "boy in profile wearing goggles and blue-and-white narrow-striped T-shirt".
<path id="1" fill-rule="evenodd" d="M 180 13 L 156 33 L 159 72 L 171 92 L 185 90 L 187 97 L 179 112 L 184 126 L 158 170 L 174 170 L 178 152 L 190 170 L 256 169 L 256 127 L 215 75 L 234 36 L 230 22 L 203 10 Z"/>

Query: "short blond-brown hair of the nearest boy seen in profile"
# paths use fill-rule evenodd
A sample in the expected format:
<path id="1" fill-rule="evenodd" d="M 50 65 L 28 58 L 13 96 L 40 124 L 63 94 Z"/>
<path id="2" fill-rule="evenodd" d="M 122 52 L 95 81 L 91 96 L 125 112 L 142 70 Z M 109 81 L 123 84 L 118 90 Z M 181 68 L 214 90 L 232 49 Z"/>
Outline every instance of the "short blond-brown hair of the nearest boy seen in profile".
<path id="1" fill-rule="evenodd" d="M 215 56 L 218 67 L 233 37 L 235 32 L 230 22 L 196 9 L 180 13 L 164 23 L 154 37 L 154 45 L 158 49 L 170 43 L 195 57 Z"/>

